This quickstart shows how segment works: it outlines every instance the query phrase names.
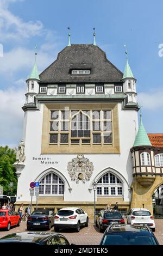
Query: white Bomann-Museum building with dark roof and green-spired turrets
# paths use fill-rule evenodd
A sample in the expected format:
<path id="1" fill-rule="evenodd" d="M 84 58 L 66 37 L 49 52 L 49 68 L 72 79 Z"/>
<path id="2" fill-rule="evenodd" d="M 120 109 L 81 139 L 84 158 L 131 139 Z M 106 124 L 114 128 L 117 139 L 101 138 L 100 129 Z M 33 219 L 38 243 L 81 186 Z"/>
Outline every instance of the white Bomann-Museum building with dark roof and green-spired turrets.
<path id="1" fill-rule="evenodd" d="M 163 135 L 147 135 L 142 117 L 138 123 L 128 57 L 122 73 L 93 36 L 93 44 L 71 44 L 69 34 L 68 45 L 40 75 L 35 53 L 14 163 L 17 207 L 30 204 L 34 181 L 40 183 L 39 208 L 80 206 L 93 216 L 95 190 L 97 212 L 116 202 L 123 215 L 130 207 L 153 212 L 163 184 Z"/>

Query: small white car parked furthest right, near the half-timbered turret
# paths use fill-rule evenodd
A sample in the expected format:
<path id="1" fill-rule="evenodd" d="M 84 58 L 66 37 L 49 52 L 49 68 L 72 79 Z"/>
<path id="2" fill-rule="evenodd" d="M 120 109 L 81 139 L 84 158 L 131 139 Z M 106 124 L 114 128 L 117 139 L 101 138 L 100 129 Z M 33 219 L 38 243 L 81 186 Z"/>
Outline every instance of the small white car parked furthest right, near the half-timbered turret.
<path id="1" fill-rule="evenodd" d="M 151 215 L 151 212 L 145 208 L 133 208 L 130 210 L 129 215 L 127 216 L 127 223 L 134 224 L 147 224 L 152 231 L 155 231 L 155 222 L 154 218 Z"/>

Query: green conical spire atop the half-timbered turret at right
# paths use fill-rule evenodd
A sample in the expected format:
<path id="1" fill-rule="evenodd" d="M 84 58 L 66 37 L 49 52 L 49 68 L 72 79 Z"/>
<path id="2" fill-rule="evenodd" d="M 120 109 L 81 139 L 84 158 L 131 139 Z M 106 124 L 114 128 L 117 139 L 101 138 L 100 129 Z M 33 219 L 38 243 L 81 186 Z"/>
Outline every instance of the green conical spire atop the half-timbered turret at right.
<path id="1" fill-rule="evenodd" d="M 152 146 L 151 142 L 149 141 L 145 127 L 142 123 L 142 114 L 140 114 L 140 126 L 134 142 L 134 147 L 137 146 Z"/>

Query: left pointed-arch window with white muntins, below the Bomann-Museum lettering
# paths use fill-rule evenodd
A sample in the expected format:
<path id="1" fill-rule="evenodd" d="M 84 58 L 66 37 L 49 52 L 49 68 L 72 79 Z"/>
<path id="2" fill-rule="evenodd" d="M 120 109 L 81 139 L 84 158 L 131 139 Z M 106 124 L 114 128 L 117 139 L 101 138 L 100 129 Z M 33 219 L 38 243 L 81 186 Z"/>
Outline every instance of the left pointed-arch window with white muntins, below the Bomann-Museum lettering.
<path id="1" fill-rule="evenodd" d="M 39 194 L 61 196 L 64 194 L 64 182 L 56 174 L 49 173 L 40 180 Z"/>

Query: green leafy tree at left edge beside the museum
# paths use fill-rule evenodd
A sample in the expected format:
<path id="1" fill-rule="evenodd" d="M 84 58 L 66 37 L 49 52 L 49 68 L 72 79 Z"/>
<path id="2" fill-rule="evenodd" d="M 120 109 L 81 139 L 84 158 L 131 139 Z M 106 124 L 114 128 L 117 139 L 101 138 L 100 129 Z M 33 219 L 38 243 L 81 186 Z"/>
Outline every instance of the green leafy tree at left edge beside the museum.
<path id="1" fill-rule="evenodd" d="M 0 147 L 0 185 L 3 186 L 3 194 L 10 196 L 10 182 L 14 182 L 12 196 L 16 194 L 17 177 L 16 168 L 12 164 L 16 161 L 14 149 L 8 146 Z"/>

